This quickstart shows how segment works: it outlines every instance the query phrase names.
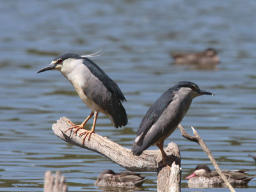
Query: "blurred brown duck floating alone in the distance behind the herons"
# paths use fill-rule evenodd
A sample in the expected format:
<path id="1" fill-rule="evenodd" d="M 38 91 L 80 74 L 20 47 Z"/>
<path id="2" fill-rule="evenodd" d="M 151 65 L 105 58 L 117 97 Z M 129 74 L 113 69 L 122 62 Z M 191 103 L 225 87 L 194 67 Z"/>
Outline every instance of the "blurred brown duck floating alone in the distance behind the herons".
<path id="1" fill-rule="evenodd" d="M 220 58 L 215 49 L 205 49 L 203 52 L 174 52 L 170 53 L 175 64 L 216 64 Z"/>

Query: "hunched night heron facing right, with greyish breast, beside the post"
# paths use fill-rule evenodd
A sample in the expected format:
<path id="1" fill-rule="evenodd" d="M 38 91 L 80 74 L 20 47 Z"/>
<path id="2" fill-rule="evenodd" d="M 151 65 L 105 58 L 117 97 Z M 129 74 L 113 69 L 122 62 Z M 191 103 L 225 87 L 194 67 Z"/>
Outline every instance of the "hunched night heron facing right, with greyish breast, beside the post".
<path id="1" fill-rule="evenodd" d="M 132 152 L 140 156 L 144 150 L 156 144 L 163 156 L 163 165 L 167 155 L 163 150 L 164 140 L 172 134 L 187 113 L 192 100 L 200 95 L 214 95 L 200 90 L 198 85 L 181 81 L 159 97 L 148 109 L 137 131 Z"/>

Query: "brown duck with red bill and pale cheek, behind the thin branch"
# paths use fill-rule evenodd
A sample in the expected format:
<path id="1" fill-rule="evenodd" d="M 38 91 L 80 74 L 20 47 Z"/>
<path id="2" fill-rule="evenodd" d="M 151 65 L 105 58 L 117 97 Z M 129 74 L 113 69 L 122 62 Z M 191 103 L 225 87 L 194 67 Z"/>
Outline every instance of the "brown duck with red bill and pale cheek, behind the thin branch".
<path id="1" fill-rule="evenodd" d="M 223 170 L 222 173 L 227 177 L 228 182 L 230 182 L 232 186 L 246 185 L 251 179 L 256 177 L 256 175 L 248 177 L 244 170 Z M 225 187 L 225 183 L 220 175 L 217 172 L 211 172 L 206 164 L 199 164 L 196 166 L 194 172 L 186 177 L 186 179 L 189 179 L 189 188 L 211 188 L 213 186 Z"/>

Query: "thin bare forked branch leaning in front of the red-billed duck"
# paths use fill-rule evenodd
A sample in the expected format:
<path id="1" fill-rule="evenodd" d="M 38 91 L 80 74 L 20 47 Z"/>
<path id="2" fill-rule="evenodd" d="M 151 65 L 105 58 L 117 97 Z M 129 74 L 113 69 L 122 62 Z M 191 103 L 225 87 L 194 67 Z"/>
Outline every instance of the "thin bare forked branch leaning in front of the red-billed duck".
<path id="1" fill-rule="evenodd" d="M 219 173 L 221 179 L 224 180 L 225 184 L 228 186 L 228 188 L 230 189 L 230 191 L 234 191 L 234 188 L 231 186 L 231 184 L 228 182 L 227 178 L 225 177 L 225 175 L 223 175 L 223 173 L 220 170 L 220 167 L 218 166 L 216 160 L 214 159 L 214 157 L 212 156 L 212 152 L 211 150 L 209 150 L 209 148 L 207 147 L 207 145 L 204 143 L 204 140 L 202 140 L 202 138 L 199 136 L 199 134 L 196 132 L 194 127 L 191 127 L 193 130 L 193 134 L 195 136 L 191 136 L 190 134 L 188 134 L 188 132 L 185 131 L 185 129 L 181 126 L 178 125 L 178 128 L 180 129 L 181 135 L 190 140 L 190 141 L 194 141 L 196 143 L 198 143 L 198 145 L 202 148 L 202 150 L 204 150 L 205 154 L 207 154 L 207 156 L 209 157 L 209 159 L 211 160 L 214 168 L 216 169 L 216 171 Z"/>

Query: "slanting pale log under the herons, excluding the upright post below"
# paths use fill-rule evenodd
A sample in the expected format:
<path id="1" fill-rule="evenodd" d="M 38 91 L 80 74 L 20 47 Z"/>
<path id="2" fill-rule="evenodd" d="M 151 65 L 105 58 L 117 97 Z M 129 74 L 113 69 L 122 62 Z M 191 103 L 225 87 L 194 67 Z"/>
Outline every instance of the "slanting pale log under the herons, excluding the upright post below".
<path id="1" fill-rule="evenodd" d="M 90 141 L 86 138 L 83 145 L 83 136 L 79 137 L 83 130 L 77 131 L 76 134 L 72 130 L 65 133 L 71 126 L 68 123 L 68 118 L 61 117 L 56 124 L 52 125 L 52 130 L 56 136 L 67 143 L 102 154 L 102 156 L 107 157 L 127 170 L 132 172 L 157 172 L 158 164 L 162 160 L 160 150 L 145 150 L 141 156 L 134 156 L 131 149 L 124 148 L 97 133 L 91 135 Z M 175 157 L 180 162 L 179 148 L 177 145 L 176 147 L 172 145 L 168 145 L 164 150 L 168 156 Z"/>

